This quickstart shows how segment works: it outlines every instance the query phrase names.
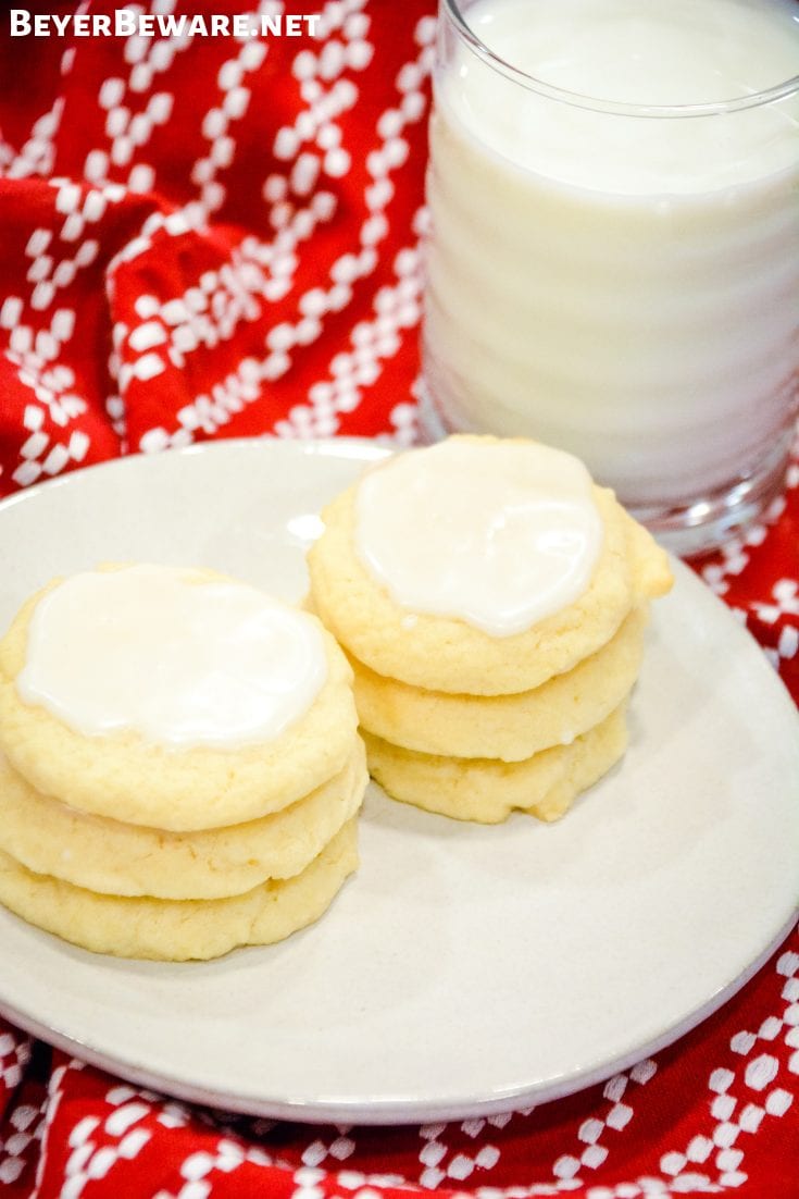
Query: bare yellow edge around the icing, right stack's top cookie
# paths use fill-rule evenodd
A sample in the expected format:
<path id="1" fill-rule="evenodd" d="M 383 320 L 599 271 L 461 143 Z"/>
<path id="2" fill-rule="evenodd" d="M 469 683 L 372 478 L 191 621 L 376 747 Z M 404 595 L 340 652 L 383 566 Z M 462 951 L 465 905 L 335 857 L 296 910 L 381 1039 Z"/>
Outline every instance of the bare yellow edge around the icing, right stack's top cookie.
<path id="1" fill-rule="evenodd" d="M 594 487 L 604 542 L 587 590 L 521 633 L 491 637 L 462 620 L 413 614 L 394 603 L 357 554 L 356 492 L 357 484 L 322 513 L 325 534 L 308 553 L 310 601 L 353 657 L 413 687 L 471 695 L 532 691 L 595 653 L 632 608 L 672 583 L 664 550 L 612 492 Z"/>

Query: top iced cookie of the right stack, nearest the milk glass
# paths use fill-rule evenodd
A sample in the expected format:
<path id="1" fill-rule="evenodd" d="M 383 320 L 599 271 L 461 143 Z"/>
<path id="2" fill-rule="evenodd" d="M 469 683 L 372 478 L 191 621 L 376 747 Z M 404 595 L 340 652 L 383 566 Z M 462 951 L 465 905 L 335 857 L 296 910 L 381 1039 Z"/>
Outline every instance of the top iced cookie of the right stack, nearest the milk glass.
<path id="1" fill-rule="evenodd" d="M 449 438 L 387 459 L 323 512 L 311 600 L 379 675 L 531 691 L 595 653 L 671 585 L 665 553 L 576 458 Z"/>

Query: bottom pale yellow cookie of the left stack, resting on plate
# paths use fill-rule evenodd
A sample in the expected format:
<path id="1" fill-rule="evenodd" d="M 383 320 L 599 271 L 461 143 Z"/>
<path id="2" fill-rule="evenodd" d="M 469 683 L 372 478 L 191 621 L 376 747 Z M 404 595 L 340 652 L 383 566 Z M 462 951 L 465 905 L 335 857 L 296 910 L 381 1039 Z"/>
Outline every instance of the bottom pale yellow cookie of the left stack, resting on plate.
<path id="1" fill-rule="evenodd" d="M 228 899 L 181 900 L 95 894 L 34 874 L 0 852 L 0 903 L 95 953 L 205 960 L 240 945 L 271 945 L 317 920 L 355 870 L 357 857 L 352 819 L 291 879 L 271 880 Z"/>

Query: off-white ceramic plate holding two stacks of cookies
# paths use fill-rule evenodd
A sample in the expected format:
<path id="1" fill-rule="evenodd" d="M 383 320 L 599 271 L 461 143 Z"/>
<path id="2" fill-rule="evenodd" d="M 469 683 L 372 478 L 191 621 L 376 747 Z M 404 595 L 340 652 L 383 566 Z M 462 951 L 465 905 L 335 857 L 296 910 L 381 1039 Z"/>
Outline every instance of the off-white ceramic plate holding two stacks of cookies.
<path id="1" fill-rule="evenodd" d="M 0 505 L 0 625 L 102 561 L 287 597 L 316 513 L 383 451 L 226 442 Z M 558 825 L 461 825 L 373 787 L 362 866 L 313 928 L 210 964 L 96 957 L 0 910 L 0 1010 L 134 1081 L 298 1120 L 525 1107 L 719 1007 L 794 918 L 799 736 L 755 643 L 685 568 L 655 605 L 624 763 Z"/>

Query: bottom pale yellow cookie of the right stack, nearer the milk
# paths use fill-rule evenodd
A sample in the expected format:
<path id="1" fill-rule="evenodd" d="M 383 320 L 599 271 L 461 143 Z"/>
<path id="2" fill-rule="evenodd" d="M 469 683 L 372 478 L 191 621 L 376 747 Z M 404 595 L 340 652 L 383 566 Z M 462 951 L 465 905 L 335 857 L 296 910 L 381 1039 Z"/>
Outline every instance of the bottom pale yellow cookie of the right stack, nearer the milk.
<path id="1" fill-rule="evenodd" d="M 627 748 L 624 705 L 570 746 L 526 761 L 442 758 L 400 749 L 365 734 L 369 770 L 394 800 L 456 820 L 498 824 L 517 808 L 557 820 Z"/>

